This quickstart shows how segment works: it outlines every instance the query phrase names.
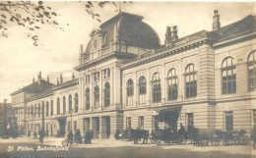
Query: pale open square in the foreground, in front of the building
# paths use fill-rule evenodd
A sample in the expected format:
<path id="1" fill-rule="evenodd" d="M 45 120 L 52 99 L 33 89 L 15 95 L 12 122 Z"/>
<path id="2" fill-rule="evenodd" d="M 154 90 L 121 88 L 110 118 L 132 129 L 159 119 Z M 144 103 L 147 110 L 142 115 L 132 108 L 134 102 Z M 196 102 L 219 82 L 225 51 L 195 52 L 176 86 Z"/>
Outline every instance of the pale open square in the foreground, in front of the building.
<path id="1" fill-rule="evenodd" d="M 61 146 L 61 141 L 64 138 L 46 137 L 42 146 Z M 18 137 L 17 139 L 0 139 L 1 152 L 5 153 L 5 156 L 16 157 L 21 156 L 24 153 L 19 152 L 6 152 L 7 147 L 10 145 L 28 145 L 38 146 L 38 139 L 28 137 Z M 33 152 L 37 155 L 40 152 Z M 43 155 L 39 154 L 39 157 L 44 157 L 51 152 L 43 152 Z M 175 157 L 256 157 L 256 150 L 252 150 L 251 145 L 229 145 L 229 146 L 193 146 L 192 144 L 133 144 L 133 141 L 121 141 L 114 139 L 93 139 L 92 144 L 79 144 L 78 146 L 72 146 L 69 151 L 52 152 L 51 154 L 58 153 L 62 156 L 71 157 L 104 157 L 107 155 L 115 155 L 117 157 L 151 157 L 153 155 L 163 158 L 169 155 L 169 153 L 175 153 Z M 165 153 L 165 154 L 164 154 Z M 167 154 L 168 153 L 168 154 Z M 11 156 L 11 155 L 15 156 Z M 104 155 L 105 154 L 105 155 Z M 134 155 L 135 154 L 135 155 Z M 138 155 L 137 155 L 138 154 Z M 0 154 L 2 155 L 2 154 Z M 28 153 L 27 153 L 28 155 Z M 119 156 L 118 156 L 119 155 Z M 121 155 L 121 156 L 120 156 Z M 21 156 L 22 157 L 22 156 Z M 36 156 L 35 156 L 36 157 Z M 2 157 L 1 157 L 2 158 Z"/>

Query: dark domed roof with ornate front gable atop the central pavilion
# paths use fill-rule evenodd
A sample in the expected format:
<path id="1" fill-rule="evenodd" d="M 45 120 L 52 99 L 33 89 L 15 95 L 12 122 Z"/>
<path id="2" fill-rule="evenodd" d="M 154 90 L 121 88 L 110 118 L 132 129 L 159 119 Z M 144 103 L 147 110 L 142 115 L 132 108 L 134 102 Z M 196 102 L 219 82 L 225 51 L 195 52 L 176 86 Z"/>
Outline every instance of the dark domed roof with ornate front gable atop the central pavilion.
<path id="1" fill-rule="evenodd" d="M 91 40 L 85 54 L 94 51 L 94 47 L 104 48 L 111 42 L 124 42 L 127 46 L 143 49 L 160 47 L 158 33 L 149 25 L 142 22 L 143 17 L 128 13 L 119 13 L 99 26 L 91 33 Z M 99 41 L 96 38 L 99 36 Z M 101 41 L 100 41 L 101 39 Z M 96 42 L 95 42 L 96 41 Z"/>

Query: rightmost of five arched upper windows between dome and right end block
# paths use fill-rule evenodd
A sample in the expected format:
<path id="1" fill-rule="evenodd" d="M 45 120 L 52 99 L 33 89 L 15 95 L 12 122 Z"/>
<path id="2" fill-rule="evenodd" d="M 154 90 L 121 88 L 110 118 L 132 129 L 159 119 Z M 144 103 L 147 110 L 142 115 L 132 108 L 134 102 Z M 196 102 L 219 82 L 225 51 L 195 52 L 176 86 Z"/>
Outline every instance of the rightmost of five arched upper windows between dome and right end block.
<path id="1" fill-rule="evenodd" d="M 189 64 L 185 70 L 186 98 L 197 96 L 197 76 L 194 64 Z"/>

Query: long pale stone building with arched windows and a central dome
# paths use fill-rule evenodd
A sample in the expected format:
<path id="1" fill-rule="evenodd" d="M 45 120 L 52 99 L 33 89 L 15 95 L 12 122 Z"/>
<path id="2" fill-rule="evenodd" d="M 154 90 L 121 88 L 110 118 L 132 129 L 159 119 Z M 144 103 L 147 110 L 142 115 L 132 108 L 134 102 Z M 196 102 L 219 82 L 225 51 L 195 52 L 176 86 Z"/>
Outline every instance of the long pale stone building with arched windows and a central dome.
<path id="1" fill-rule="evenodd" d="M 213 30 L 179 38 L 177 26 L 167 26 L 162 45 L 142 20 L 119 13 L 94 29 L 87 48 L 81 45 L 78 78 L 12 93 L 14 106 L 44 111 L 19 120 L 25 133 L 43 125 L 49 135 L 80 129 L 111 138 L 125 128 L 177 131 L 180 124 L 250 132 L 256 124 L 255 16 L 221 26 L 215 11 Z"/>

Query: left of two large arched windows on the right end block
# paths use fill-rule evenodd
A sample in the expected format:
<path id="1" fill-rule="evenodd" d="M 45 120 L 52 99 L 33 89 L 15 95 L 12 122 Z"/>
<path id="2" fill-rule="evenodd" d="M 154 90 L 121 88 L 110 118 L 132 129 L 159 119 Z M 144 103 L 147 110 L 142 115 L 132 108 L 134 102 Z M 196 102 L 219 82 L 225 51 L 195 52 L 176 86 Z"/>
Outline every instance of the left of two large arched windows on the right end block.
<path id="1" fill-rule="evenodd" d="M 233 58 L 224 59 L 222 66 L 223 94 L 236 93 L 236 72 Z"/>

